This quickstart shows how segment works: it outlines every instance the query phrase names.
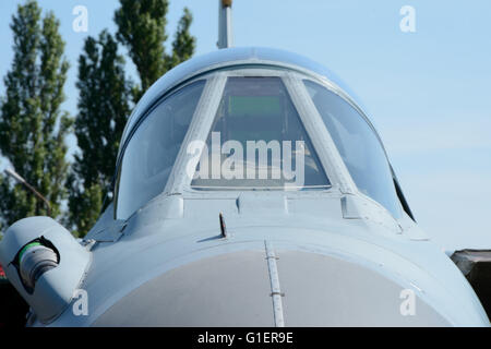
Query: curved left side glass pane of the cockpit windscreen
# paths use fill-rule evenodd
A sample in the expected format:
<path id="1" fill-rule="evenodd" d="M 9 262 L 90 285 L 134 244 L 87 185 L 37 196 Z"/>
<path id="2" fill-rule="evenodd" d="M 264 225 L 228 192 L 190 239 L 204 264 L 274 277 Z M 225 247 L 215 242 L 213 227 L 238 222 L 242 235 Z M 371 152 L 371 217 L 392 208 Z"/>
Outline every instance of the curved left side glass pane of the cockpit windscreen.
<path id="1" fill-rule="evenodd" d="M 204 85 L 205 81 L 197 81 L 165 98 L 137 127 L 118 178 L 119 219 L 164 191 Z"/>

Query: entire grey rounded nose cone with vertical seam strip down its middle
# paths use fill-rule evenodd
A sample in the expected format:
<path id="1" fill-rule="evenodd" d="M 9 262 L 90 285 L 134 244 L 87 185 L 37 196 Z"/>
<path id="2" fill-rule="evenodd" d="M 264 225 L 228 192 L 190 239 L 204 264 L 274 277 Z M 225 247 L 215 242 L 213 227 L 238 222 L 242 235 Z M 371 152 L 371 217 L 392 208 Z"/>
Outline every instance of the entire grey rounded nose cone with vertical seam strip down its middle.
<path id="1" fill-rule="evenodd" d="M 447 325 L 417 296 L 402 298 L 404 287 L 394 278 L 363 263 L 299 251 L 275 253 L 267 244 L 265 250 L 208 256 L 173 268 L 123 297 L 94 325 Z"/>

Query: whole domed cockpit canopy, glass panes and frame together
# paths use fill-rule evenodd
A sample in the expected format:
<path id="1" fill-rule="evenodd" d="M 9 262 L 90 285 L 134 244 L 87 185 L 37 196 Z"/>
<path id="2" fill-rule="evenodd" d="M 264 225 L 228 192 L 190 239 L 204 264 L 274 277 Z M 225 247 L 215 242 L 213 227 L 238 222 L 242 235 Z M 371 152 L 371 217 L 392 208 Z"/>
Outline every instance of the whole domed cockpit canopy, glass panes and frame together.
<path id="1" fill-rule="evenodd" d="M 400 216 L 382 143 L 349 96 L 298 58 L 271 61 L 253 52 L 159 81 L 167 84 L 160 94 L 151 88 L 121 142 L 117 218 L 161 193 L 350 185 Z"/>

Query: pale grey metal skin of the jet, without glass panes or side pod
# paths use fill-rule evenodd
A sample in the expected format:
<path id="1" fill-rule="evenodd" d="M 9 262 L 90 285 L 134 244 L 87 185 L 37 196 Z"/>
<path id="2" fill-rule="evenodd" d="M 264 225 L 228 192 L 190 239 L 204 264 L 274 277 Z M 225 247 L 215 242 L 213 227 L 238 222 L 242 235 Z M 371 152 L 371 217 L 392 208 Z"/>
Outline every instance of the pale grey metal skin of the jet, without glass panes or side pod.
<path id="1" fill-rule="evenodd" d="M 213 120 L 225 79 L 272 71 L 287 82 L 332 188 L 193 191 L 184 174 L 188 158 L 182 149 L 191 140 L 206 137 L 209 127 L 204 125 Z M 209 74 L 208 89 L 164 192 L 124 221 L 113 218 L 111 204 L 83 242 L 91 263 L 77 288 L 87 291 L 88 315 L 75 316 L 70 305 L 76 300 L 72 300 L 55 321 L 37 317 L 31 325 L 490 325 L 465 277 L 408 214 L 402 209 L 395 218 L 358 191 L 319 115 L 296 91 L 296 74 L 322 82 L 358 106 L 338 80 L 304 58 L 239 48 L 179 65 L 135 108 L 118 166 L 145 111 L 175 87 L 203 74 Z M 311 120 L 304 117 L 309 112 Z M 220 234 L 219 213 L 227 224 L 226 238 Z M 404 290 L 416 296 L 415 315 L 400 312 Z"/>

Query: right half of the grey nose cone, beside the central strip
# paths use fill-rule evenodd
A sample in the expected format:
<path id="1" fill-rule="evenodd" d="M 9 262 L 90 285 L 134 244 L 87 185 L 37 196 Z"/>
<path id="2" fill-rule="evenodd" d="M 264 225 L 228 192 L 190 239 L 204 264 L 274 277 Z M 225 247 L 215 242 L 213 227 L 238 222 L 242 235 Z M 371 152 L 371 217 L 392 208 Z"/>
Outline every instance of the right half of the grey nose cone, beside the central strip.
<path id="1" fill-rule="evenodd" d="M 400 275 L 364 261 L 287 251 L 277 261 L 287 326 L 445 326 Z M 397 280 L 398 279 L 398 280 Z"/>

